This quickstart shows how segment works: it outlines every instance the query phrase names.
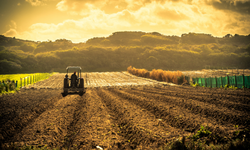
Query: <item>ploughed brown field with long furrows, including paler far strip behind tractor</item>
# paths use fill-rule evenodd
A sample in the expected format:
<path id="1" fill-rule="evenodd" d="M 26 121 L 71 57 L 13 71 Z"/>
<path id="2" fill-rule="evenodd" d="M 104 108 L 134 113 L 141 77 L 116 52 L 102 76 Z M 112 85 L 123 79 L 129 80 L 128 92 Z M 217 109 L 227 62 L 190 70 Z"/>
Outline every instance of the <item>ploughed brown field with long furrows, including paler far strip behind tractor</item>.
<path id="1" fill-rule="evenodd" d="M 64 75 L 57 74 L 35 89 L 0 97 L 1 143 L 148 149 L 193 135 L 201 125 L 220 141 L 233 136 L 235 125 L 250 127 L 249 90 L 164 86 L 123 73 L 83 76 L 83 96 L 63 97 Z"/>

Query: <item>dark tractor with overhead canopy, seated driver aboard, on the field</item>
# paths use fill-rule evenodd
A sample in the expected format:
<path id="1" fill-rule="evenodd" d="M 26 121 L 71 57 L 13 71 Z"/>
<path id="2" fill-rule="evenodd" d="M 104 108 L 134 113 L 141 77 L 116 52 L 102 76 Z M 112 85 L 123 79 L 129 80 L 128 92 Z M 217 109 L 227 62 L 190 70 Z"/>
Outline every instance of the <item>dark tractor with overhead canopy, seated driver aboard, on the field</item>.
<path id="1" fill-rule="evenodd" d="M 68 95 L 69 91 L 79 92 L 80 95 L 84 94 L 84 79 L 81 77 L 81 67 L 79 66 L 68 66 L 66 68 L 67 74 L 64 78 L 63 84 L 63 95 Z M 69 78 L 69 71 L 74 71 L 74 74 Z M 77 74 L 76 74 L 77 71 Z"/>

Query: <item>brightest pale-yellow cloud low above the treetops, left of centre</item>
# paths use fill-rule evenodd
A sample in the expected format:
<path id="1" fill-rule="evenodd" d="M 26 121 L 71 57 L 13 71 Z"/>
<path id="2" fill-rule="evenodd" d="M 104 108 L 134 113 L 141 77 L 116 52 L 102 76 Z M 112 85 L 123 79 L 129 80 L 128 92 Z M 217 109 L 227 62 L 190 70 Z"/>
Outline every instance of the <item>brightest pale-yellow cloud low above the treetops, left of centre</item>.
<path id="1" fill-rule="evenodd" d="M 128 30 L 130 23 L 120 17 L 126 17 L 126 11 L 107 15 L 100 10 L 92 10 L 91 16 L 80 20 L 65 20 L 59 24 L 36 23 L 29 31 L 20 33 L 20 38 L 36 41 L 70 39 L 73 42 L 83 42 L 96 36 L 107 36 L 118 29 Z"/>

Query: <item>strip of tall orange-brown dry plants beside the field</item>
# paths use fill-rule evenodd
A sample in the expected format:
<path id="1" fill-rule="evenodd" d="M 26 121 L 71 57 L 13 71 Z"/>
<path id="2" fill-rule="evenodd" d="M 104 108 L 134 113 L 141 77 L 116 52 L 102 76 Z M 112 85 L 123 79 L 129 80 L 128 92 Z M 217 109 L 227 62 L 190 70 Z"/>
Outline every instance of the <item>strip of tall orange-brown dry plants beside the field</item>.
<path id="1" fill-rule="evenodd" d="M 186 83 L 184 75 L 180 71 L 166 71 L 162 69 L 153 69 L 149 72 L 146 69 L 136 69 L 129 66 L 127 71 L 133 75 L 145 78 L 151 78 L 158 81 L 172 82 L 175 84 Z"/>

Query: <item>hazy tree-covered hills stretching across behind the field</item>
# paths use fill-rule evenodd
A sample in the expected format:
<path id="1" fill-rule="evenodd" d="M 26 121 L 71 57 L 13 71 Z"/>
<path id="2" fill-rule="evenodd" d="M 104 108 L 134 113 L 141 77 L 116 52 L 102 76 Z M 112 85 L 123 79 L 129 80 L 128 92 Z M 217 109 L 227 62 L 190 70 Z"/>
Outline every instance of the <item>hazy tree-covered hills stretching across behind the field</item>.
<path id="1" fill-rule="evenodd" d="M 188 33 L 115 32 L 83 43 L 70 40 L 35 42 L 0 35 L 0 73 L 125 71 L 128 66 L 163 70 L 250 68 L 250 34 L 222 38 Z"/>

